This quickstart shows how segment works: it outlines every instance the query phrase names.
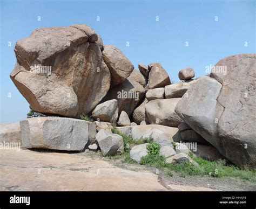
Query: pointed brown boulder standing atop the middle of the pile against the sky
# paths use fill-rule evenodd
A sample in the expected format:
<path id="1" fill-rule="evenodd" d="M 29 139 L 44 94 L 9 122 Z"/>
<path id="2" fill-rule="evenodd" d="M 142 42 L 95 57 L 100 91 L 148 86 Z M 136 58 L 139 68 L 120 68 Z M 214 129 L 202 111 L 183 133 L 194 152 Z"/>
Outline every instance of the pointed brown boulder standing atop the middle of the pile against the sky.
<path id="1" fill-rule="evenodd" d="M 169 75 L 160 63 L 152 65 L 149 73 L 149 88 L 159 88 L 170 85 Z"/>

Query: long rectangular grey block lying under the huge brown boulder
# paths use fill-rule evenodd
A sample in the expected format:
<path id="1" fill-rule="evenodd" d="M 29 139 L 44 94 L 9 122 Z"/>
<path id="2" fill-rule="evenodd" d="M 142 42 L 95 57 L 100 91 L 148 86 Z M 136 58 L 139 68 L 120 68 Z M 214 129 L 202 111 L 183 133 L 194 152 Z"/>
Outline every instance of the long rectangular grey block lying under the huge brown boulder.
<path id="1" fill-rule="evenodd" d="M 31 117 L 20 121 L 23 147 L 83 150 L 89 141 L 89 123 L 65 117 Z"/>

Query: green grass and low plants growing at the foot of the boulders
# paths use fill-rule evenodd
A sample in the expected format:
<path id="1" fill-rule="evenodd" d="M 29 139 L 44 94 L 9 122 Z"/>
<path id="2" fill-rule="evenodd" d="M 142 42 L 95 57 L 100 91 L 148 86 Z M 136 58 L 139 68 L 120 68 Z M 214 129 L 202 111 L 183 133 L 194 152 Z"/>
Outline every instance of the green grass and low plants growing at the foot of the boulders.
<path id="1" fill-rule="evenodd" d="M 173 176 L 173 171 L 177 172 L 180 177 L 190 176 L 211 176 L 214 178 L 238 178 L 242 180 L 249 180 L 251 182 L 256 182 L 256 169 L 239 169 L 237 166 L 230 165 L 226 161 L 208 161 L 201 157 L 193 157 L 193 161 L 197 162 L 199 165 L 194 165 L 190 162 L 184 163 L 166 163 L 164 156 L 159 155 L 160 145 L 153 142 L 153 138 L 144 138 L 142 140 L 133 140 L 131 136 L 120 133 L 116 126 L 113 126 L 112 132 L 114 134 L 119 134 L 123 136 L 125 152 L 122 155 L 117 155 L 110 157 L 111 159 L 123 159 L 126 163 L 135 163 L 130 158 L 130 150 L 134 145 L 150 143 L 147 145 L 149 150 L 149 155 L 142 158 L 140 164 L 151 166 L 153 168 L 158 168 L 165 170 L 167 175 Z M 176 149 L 176 144 L 173 143 L 173 148 Z"/>

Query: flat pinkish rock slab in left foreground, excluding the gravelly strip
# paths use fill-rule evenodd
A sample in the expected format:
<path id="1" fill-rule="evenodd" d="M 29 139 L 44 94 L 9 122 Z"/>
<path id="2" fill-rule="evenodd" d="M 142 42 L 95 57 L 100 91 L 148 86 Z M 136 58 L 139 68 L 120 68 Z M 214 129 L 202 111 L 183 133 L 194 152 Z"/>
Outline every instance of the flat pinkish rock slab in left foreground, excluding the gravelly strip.
<path id="1" fill-rule="evenodd" d="M 149 171 L 79 154 L 1 150 L 0 191 L 166 191 Z"/>

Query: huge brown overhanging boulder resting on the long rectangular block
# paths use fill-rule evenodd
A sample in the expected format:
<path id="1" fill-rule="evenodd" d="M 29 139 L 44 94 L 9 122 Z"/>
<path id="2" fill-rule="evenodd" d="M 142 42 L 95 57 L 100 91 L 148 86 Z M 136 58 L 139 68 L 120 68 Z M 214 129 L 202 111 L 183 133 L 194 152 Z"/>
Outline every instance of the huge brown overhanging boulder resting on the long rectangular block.
<path id="1" fill-rule="evenodd" d="M 16 43 L 10 77 L 35 111 L 75 117 L 103 99 L 111 75 L 98 44 L 90 42 L 95 34 L 83 25 L 41 28 Z"/>

